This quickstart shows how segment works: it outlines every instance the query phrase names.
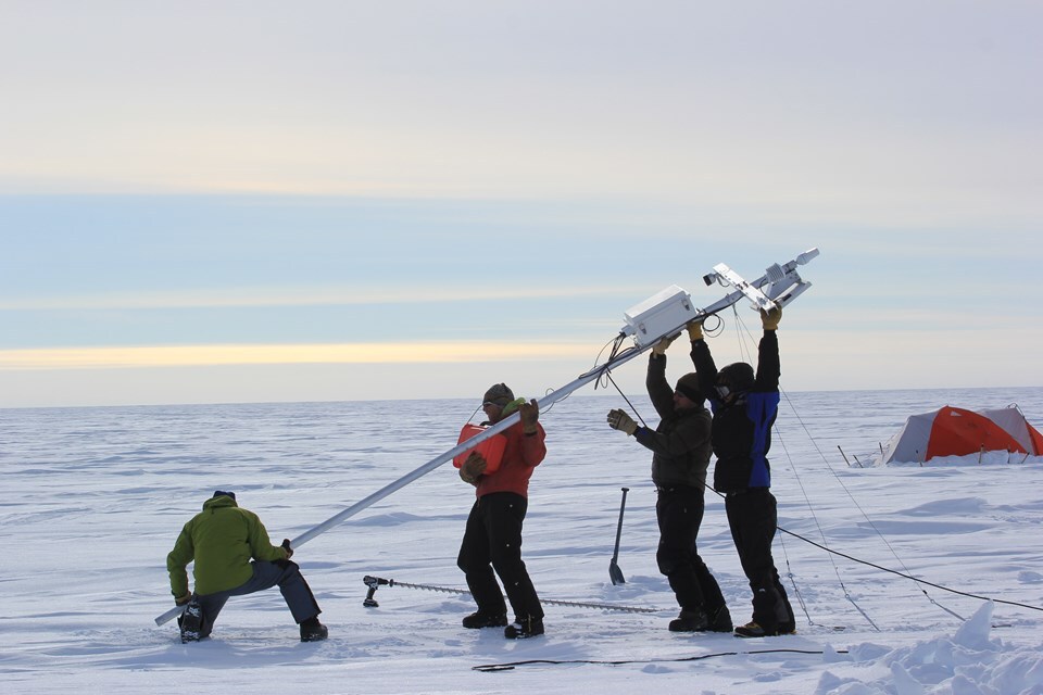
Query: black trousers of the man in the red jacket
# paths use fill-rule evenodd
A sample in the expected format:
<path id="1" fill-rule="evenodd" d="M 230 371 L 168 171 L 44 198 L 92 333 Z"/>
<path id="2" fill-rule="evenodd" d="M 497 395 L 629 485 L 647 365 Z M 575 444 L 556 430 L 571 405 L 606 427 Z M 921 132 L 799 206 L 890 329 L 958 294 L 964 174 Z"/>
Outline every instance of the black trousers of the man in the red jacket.
<path id="1" fill-rule="evenodd" d="M 522 522 L 527 509 L 528 500 L 513 492 L 483 495 L 470 508 L 456 566 L 464 571 L 481 612 L 507 611 L 493 577 L 495 570 L 515 617 L 543 618 L 540 598 L 522 561 Z"/>

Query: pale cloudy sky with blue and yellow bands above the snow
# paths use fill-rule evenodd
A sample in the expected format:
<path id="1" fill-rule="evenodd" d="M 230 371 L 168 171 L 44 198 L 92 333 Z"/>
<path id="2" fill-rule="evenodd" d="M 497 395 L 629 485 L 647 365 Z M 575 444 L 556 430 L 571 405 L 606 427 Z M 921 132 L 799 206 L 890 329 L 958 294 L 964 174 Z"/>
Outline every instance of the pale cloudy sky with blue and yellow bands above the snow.
<path id="1" fill-rule="evenodd" d="M 1039 386 L 1041 34 L 1003 0 L 4 0 L 0 407 L 536 396 L 663 288 L 809 248 L 788 389 Z"/>

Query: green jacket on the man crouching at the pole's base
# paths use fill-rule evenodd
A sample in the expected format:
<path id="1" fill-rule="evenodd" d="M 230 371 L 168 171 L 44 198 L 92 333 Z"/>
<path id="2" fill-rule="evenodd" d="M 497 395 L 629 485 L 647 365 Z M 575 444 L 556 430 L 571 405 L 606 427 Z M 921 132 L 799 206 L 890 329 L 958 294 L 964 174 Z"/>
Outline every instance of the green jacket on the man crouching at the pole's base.
<path id="1" fill-rule="evenodd" d="M 272 545 L 268 532 L 253 511 L 242 509 L 226 495 L 203 503 L 203 510 L 185 525 L 174 549 L 166 556 L 171 592 L 189 593 L 185 568 L 196 563 L 197 594 L 235 589 L 253 576 L 250 560 L 284 560 L 286 549 Z"/>

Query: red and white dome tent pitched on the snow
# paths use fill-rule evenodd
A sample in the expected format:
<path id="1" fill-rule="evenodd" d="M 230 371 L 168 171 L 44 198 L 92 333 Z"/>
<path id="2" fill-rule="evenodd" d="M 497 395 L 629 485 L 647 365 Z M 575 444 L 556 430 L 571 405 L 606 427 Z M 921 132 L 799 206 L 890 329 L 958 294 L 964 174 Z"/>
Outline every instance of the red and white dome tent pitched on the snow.
<path id="1" fill-rule="evenodd" d="M 1043 434 L 1017 406 L 975 413 L 946 405 L 909 417 L 884 446 L 882 462 L 922 463 L 994 451 L 1043 455 Z"/>

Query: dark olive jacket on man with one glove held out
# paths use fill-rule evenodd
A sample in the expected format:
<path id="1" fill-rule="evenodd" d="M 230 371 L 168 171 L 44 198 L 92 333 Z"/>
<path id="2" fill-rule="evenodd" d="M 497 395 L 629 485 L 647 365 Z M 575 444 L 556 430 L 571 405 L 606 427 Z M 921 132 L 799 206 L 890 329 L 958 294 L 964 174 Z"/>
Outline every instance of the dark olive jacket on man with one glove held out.
<path id="1" fill-rule="evenodd" d="M 649 357 L 645 387 L 661 419 L 654 431 L 639 427 L 633 437 L 652 452 L 652 481 L 664 488 L 690 485 L 702 493 L 709 467 L 709 410 L 702 400 L 691 408 L 674 408 L 674 389 L 666 380 L 666 355 Z"/>

